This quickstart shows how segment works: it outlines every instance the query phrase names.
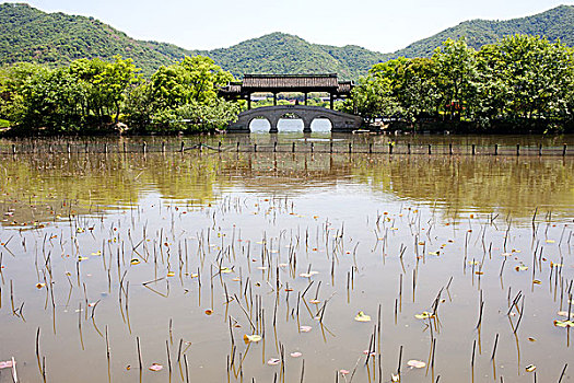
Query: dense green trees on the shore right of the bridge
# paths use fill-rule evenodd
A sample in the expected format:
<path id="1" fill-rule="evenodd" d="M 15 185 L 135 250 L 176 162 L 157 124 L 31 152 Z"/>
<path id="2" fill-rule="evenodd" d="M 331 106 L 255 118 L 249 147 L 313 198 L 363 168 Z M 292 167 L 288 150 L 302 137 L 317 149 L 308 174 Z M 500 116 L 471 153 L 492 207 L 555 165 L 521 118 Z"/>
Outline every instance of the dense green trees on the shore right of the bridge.
<path id="1" fill-rule="evenodd" d="M 373 120 L 466 131 L 565 131 L 574 125 L 574 50 L 515 35 L 480 50 L 447 39 L 431 58 L 377 63 L 344 104 Z M 440 124 L 437 124 L 440 123 Z M 442 124 L 445 123 L 445 124 Z"/>

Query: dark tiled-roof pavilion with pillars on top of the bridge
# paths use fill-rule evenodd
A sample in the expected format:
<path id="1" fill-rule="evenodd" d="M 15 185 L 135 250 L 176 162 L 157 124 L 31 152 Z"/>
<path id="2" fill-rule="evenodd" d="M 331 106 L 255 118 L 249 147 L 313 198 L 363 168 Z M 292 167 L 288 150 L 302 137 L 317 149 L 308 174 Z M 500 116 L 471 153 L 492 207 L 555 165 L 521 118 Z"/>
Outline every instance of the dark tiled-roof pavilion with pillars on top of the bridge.
<path id="1" fill-rule="evenodd" d="M 337 73 L 328 74 L 244 74 L 243 81 L 231 82 L 220 89 L 219 93 L 226 100 L 247 100 L 251 108 L 251 94 L 272 93 L 273 105 L 277 105 L 278 93 L 303 93 L 307 105 L 308 93 L 328 93 L 330 108 L 336 98 L 351 96 L 353 83 L 339 81 Z"/>

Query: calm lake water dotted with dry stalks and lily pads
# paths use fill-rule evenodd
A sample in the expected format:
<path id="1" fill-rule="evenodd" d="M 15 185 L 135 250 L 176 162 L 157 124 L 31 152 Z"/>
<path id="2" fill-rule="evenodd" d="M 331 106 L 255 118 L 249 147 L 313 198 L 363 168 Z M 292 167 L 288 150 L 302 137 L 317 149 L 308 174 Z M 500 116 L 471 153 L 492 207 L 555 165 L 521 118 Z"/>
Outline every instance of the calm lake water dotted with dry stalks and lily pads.
<path id="1" fill-rule="evenodd" d="M 0 360 L 21 382 L 389 382 L 399 355 L 401 382 L 574 378 L 574 158 L 468 152 L 572 137 L 292 130 L 0 141 Z M 166 152 L 118 153 L 142 141 Z"/>

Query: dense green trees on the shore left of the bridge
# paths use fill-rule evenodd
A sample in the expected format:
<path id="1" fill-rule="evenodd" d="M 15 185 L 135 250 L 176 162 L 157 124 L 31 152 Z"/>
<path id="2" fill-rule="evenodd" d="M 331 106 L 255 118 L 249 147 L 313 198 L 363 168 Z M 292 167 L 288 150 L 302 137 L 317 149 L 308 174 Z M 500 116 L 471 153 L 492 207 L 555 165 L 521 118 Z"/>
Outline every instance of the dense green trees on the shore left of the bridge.
<path id="1" fill-rule="evenodd" d="M 207 57 L 186 57 L 144 79 L 131 59 L 79 59 L 51 69 L 22 62 L 0 69 L 0 123 L 19 136 L 204 131 L 239 111 L 216 90 L 233 76 Z M 10 129 L 5 129 L 10 127 Z"/>

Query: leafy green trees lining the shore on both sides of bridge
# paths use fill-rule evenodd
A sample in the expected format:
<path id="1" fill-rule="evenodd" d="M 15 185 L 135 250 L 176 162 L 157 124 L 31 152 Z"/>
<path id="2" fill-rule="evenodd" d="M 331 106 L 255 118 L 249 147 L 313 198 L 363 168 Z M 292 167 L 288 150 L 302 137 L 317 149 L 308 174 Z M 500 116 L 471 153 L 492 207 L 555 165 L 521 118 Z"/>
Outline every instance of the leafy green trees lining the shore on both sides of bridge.
<path id="1" fill-rule="evenodd" d="M 207 57 L 140 72 L 120 56 L 4 66 L 0 136 L 216 132 L 246 107 L 218 95 L 234 78 Z M 574 49 L 527 35 L 480 50 L 447 39 L 431 58 L 376 63 L 336 107 L 379 131 L 573 132 Z"/>

